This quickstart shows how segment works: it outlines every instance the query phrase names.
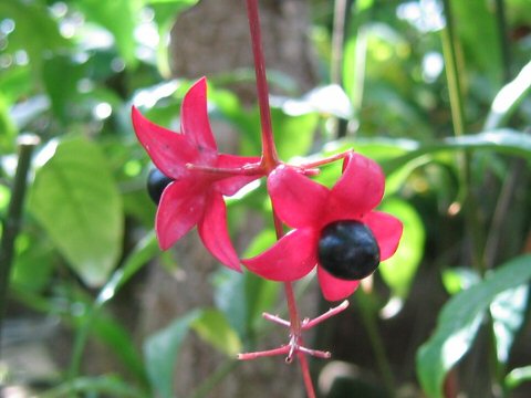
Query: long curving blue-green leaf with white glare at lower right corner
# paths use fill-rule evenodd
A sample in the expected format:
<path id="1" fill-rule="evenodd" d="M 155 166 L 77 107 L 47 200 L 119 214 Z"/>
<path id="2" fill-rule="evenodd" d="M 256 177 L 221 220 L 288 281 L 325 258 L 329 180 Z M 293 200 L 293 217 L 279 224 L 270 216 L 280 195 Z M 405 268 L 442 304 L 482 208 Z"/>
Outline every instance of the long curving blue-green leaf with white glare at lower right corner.
<path id="1" fill-rule="evenodd" d="M 531 279 L 531 255 L 516 258 L 479 284 L 455 295 L 439 313 L 434 335 L 417 352 L 417 374 L 429 397 L 442 397 L 446 373 L 469 350 L 496 297 Z"/>

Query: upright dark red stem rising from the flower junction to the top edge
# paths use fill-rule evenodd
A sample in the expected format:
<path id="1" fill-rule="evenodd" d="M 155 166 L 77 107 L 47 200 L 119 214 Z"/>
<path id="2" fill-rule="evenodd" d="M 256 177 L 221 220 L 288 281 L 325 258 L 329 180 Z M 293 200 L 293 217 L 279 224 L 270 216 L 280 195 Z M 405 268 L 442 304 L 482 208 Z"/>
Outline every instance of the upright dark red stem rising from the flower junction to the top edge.
<path id="1" fill-rule="evenodd" d="M 263 59 L 262 38 L 258 1 L 247 0 L 247 13 L 251 32 L 252 55 L 254 57 L 254 73 L 257 75 L 258 103 L 260 106 L 260 122 L 262 125 L 262 165 L 266 170 L 272 170 L 278 164 L 277 147 L 274 146 L 271 111 L 269 107 L 269 88 L 266 76 L 266 61 Z"/>

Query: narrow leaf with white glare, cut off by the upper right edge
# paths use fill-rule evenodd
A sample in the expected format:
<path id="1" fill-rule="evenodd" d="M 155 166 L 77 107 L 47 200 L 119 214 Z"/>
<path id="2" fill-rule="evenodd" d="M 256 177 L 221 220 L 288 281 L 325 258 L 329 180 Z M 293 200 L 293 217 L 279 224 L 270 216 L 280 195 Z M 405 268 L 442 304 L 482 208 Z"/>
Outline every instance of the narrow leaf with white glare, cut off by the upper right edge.
<path id="1" fill-rule="evenodd" d="M 517 77 L 506 84 L 496 95 L 490 113 L 485 122 L 485 129 L 501 127 L 518 108 L 518 105 L 531 90 L 531 62 L 525 64 Z"/>

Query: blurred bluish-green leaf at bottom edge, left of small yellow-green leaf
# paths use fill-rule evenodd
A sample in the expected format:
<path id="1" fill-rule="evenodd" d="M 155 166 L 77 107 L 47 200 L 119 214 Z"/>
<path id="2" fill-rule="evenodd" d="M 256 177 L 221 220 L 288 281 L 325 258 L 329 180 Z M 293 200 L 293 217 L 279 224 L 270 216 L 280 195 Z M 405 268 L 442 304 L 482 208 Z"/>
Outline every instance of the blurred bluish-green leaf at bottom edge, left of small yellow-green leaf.
<path id="1" fill-rule="evenodd" d="M 173 388 L 175 364 L 190 325 L 200 316 L 200 311 L 189 312 L 150 335 L 144 343 L 147 375 L 157 397 L 175 398 Z"/>

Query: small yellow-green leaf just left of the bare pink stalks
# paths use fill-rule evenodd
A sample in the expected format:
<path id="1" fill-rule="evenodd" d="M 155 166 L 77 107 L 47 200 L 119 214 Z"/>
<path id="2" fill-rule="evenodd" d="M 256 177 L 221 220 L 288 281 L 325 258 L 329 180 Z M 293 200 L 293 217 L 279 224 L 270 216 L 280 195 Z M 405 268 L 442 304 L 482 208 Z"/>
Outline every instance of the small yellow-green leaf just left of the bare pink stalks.
<path id="1" fill-rule="evenodd" d="M 225 314 L 218 310 L 205 310 L 191 323 L 191 328 L 212 347 L 229 357 L 241 352 L 241 341 L 237 332 L 227 322 Z"/>

